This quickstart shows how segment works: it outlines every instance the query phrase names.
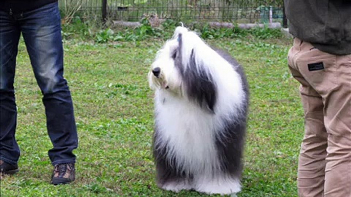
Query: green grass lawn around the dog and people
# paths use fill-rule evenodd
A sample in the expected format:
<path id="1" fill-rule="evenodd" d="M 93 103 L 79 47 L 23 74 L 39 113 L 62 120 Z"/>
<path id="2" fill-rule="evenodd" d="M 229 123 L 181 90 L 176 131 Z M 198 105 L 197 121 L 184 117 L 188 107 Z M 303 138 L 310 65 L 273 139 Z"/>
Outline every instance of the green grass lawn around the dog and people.
<path id="1" fill-rule="evenodd" d="M 287 67 L 290 39 L 209 40 L 244 66 L 251 91 L 243 191 L 238 197 L 297 196 L 303 136 L 298 83 Z M 52 144 L 41 93 L 21 41 L 16 68 L 20 171 L 1 181 L 1 196 L 207 196 L 160 190 L 151 155 L 152 92 L 147 71 L 162 41 L 95 44 L 65 40 L 65 78 L 79 134 L 76 181 L 49 184 Z"/>

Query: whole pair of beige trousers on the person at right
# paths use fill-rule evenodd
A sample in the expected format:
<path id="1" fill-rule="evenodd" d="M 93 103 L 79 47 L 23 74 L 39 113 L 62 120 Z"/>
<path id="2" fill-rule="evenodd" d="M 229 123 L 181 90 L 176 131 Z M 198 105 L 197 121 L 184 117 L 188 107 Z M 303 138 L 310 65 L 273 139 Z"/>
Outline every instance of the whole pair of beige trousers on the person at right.
<path id="1" fill-rule="evenodd" d="M 300 82 L 305 135 L 300 197 L 351 196 L 351 55 L 336 56 L 294 39 L 289 68 Z"/>

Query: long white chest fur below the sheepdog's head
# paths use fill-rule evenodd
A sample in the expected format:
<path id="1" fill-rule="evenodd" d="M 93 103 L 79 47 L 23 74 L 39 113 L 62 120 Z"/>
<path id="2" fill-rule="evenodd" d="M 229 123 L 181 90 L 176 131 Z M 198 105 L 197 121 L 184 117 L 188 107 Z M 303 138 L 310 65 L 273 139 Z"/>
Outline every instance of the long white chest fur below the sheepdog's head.
<path id="1" fill-rule="evenodd" d="M 177 157 L 177 165 L 183 166 L 189 174 L 194 171 L 210 172 L 212 166 L 219 166 L 212 114 L 204 113 L 198 105 L 182 97 L 174 97 L 167 91 L 157 91 L 156 106 L 159 127 L 164 131 L 162 140 L 156 144 L 161 147 L 168 145 L 167 156 L 170 159 Z M 167 141 L 167 144 L 164 143 Z"/>

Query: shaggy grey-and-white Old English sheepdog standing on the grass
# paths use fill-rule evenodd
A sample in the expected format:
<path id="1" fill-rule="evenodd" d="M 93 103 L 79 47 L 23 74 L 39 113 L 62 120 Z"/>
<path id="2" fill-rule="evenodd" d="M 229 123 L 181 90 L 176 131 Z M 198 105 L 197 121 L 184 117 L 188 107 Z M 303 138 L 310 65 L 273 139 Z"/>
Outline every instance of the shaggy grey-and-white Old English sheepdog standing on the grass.
<path id="1" fill-rule="evenodd" d="M 230 55 L 177 27 L 148 73 L 155 90 L 157 184 L 165 190 L 241 190 L 249 90 Z"/>

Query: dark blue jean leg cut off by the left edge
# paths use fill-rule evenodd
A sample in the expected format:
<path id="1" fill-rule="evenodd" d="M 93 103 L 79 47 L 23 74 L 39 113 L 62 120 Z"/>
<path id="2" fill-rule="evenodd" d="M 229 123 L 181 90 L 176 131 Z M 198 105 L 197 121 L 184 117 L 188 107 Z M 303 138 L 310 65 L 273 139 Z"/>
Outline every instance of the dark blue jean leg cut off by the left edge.
<path id="1" fill-rule="evenodd" d="M 19 26 L 9 13 L 0 11 L 0 160 L 12 165 L 19 158 L 15 139 L 17 107 L 13 87 Z"/>

